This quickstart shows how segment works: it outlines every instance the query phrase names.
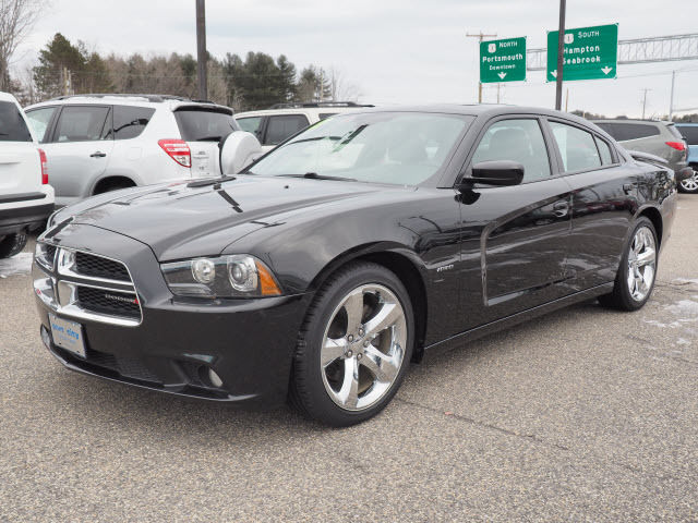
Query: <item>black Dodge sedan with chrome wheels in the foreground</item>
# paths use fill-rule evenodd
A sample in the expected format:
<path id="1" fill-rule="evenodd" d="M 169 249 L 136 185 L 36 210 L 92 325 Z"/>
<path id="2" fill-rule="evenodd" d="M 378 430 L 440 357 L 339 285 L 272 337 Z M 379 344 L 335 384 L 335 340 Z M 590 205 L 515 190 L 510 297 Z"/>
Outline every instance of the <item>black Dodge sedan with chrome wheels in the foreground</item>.
<path id="1" fill-rule="evenodd" d="M 641 307 L 675 207 L 671 170 L 569 114 L 347 113 L 236 177 L 53 215 L 41 338 L 86 374 L 351 425 L 425 353 L 582 300 Z"/>

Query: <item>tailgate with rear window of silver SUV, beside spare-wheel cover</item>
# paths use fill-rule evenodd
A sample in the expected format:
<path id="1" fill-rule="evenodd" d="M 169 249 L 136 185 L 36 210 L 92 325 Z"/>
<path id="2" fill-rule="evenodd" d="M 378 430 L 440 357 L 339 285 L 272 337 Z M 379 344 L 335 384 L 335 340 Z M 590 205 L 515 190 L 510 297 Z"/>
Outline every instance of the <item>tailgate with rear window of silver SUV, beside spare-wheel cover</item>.
<path id="1" fill-rule="evenodd" d="M 218 143 L 240 129 L 232 111 L 222 107 L 184 106 L 174 111 L 174 119 L 191 149 L 192 178 L 219 177 Z"/>

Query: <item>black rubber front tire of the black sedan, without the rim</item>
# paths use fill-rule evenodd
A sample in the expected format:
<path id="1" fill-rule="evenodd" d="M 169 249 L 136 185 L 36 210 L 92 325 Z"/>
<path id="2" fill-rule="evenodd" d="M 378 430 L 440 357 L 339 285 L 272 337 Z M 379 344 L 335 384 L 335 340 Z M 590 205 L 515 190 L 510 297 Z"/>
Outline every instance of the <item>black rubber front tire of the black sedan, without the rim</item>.
<path id="1" fill-rule="evenodd" d="M 321 365 L 321 346 L 326 330 L 330 328 L 330 321 L 339 314 L 337 313 L 337 307 L 341 305 L 342 300 L 352 291 L 356 292 L 358 288 L 372 284 L 387 289 L 399 301 L 405 318 L 406 342 L 402 348 L 404 354 L 399 370 L 396 374 L 397 377 L 392 381 L 389 388 L 380 399 L 376 399 L 375 403 L 363 410 L 350 411 L 336 403 L 325 387 L 326 375 L 324 376 L 324 374 L 326 368 Z M 365 325 L 368 325 L 370 317 L 363 317 L 366 318 Z M 329 277 L 309 307 L 303 326 L 299 331 L 298 345 L 293 356 L 289 403 L 306 417 L 334 427 L 350 426 L 369 419 L 390 402 L 400 387 L 412 357 L 413 344 L 414 316 L 409 294 L 402 282 L 395 273 L 377 264 L 364 262 L 350 264 Z M 339 361 L 337 360 L 337 362 Z M 364 360 L 364 364 L 368 358 Z M 346 363 L 342 363 L 342 365 L 346 365 Z"/>

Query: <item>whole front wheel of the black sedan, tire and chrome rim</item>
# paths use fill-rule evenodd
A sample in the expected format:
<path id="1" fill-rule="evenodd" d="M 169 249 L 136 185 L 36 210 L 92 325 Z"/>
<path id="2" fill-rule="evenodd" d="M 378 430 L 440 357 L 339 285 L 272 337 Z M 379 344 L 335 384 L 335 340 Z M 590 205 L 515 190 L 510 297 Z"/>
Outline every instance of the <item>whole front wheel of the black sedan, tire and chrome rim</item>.
<path id="1" fill-rule="evenodd" d="M 290 403 L 332 426 L 363 422 L 393 399 L 409 366 L 409 294 L 385 267 L 357 263 L 318 291 L 299 332 Z"/>

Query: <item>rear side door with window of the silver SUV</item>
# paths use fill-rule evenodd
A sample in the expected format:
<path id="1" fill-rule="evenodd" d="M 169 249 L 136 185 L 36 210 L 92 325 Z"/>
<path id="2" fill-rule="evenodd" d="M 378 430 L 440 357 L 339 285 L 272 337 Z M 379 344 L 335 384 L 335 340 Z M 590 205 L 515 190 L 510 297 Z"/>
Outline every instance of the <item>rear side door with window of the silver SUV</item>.
<path id="1" fill-rule="evenodd" d="M 69 105 L 41 148 L 46 151 L 56 204 L 69 205 L 89 195 L 113 149 L 109 106 Z"/>

